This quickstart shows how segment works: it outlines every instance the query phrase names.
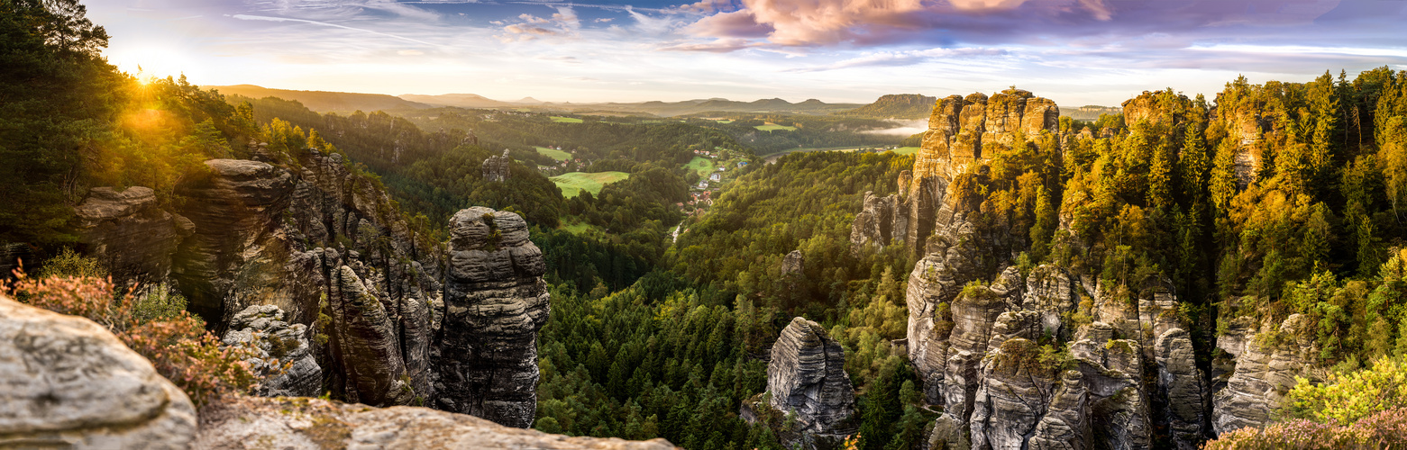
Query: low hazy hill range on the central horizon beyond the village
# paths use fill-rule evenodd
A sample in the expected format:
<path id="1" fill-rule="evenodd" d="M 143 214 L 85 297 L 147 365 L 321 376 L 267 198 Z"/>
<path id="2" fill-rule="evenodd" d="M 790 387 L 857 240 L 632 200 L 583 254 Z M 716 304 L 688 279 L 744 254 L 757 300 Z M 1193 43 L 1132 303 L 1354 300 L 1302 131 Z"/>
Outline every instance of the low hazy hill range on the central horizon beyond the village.
<path id="1" fill-rule="evenodd" d="M 442 94 L 442 96 L 401 96 L 404 100 L 461 107 L 461 108 L 532 108 L 543 111 L 567 112 L 630 112 L 650 115 L 689 115 L 701 112 L 785 112 L 785 114 L 832 114 L 860 107 L 854 103 L 825 103 L 809 98 L 802 103 L 791 103 L 782 98 L 761 98 L 754 101 L 736 101 L 727 98 L 695 98 L 684 101 L 642 101 L 642 103 L 552 103 L 526 97 L 516 101 L 498 101 L 476 94 Z"/>

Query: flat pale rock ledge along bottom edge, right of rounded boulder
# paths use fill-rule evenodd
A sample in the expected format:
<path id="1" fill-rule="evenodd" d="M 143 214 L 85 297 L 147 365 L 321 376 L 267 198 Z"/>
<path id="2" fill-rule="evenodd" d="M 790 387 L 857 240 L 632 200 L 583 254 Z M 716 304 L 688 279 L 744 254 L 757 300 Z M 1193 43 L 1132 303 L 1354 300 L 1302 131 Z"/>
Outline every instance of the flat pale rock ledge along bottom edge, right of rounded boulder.
<path id="1" fill-rule="evenodd" d="M 416 406 L 239 397 L 201 409 L 193 449 L 599 449 L 673 450 L 664 439 L 568 437 Z"/>

